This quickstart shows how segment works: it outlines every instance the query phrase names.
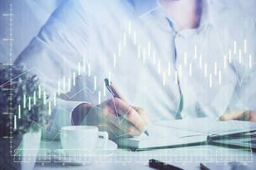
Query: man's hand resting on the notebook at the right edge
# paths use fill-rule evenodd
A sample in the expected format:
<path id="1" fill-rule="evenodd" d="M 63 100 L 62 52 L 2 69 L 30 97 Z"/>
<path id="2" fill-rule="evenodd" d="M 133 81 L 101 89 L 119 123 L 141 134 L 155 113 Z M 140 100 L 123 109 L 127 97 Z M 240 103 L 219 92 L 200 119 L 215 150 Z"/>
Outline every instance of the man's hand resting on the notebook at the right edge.
<path id="1" fill-rule="evenodd" d="M 256 122 L 256 112 L 254 111 L 226 111 L 223 115 L 220 116 L 220 120 L 246 120 L 251 122 Z"/>

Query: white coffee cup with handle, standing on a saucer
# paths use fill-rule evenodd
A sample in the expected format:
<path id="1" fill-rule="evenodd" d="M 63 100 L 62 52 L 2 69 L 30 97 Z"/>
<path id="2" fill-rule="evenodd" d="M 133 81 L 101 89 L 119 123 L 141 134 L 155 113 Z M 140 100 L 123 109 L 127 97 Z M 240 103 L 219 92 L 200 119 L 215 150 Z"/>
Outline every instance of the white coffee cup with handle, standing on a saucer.
<path id="1" fill-rule="evenodd" d="M 103 137 L 102 146 L 97 147 L 99 137 Z M 95 126 L 65 126 L 60 130 L 60 142 L 65 154 L 92 155 L 95 149 L 104 149 L 107 146 L 108 133 L 99 132 Z"/>

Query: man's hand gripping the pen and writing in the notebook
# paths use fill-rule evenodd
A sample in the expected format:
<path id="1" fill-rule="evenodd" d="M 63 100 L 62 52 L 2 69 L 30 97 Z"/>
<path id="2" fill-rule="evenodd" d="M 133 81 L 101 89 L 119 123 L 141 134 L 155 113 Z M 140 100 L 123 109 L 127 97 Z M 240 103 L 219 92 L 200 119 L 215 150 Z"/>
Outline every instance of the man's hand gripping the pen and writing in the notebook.
<path id="1" fill-rule="evenodd" d="M 80 106 L 73 111 L 73 119 L 75 115 L 81 114 L 84 115 L 83 123 L 74 123 L 75 125 L 82 123 L 82 125 L 97 126 L 100 131 L 109 133 L 110 140 L 117 140 L 118 137 L 139 136 L 146 130 L 145 109 L 129 106 L 119 98 L 109 99 L 97 106 Z"/>

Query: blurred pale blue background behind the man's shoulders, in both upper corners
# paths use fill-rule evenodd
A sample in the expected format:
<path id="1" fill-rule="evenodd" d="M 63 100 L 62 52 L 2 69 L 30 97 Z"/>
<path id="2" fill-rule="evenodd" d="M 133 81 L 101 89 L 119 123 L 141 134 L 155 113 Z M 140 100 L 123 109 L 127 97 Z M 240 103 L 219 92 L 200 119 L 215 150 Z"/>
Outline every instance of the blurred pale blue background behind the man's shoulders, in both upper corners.
<path id="1" fill-rule="evenodd" d="M 48 20 L 49 16 L 64 1 L 68 0 L 1 0 L 0 1 L 0 62 L 9 62 L 9 43 L 3 38 L 9 38 L 9 18 L 3 13 L 10 12 L 10 5 L 14 13 L 13 20 L 13 59 L 29 44 L 31 39 L 38 34 L 41 26 Z M 84 0 L 87 1 L 87 0 Z M 124 0 L 123 0 L 124 1 Z M 142 0 L 143 1 L 143 0 Z M 205 1 L 205 0 L 203 0 Z M 215 0 L 214 0 L 215 1 Z M 241 11 L 256 23 L 256 1 L 255 0 L 221 0 L 216 1 L 216 6 L 230 6 L 240 8 Z"/>

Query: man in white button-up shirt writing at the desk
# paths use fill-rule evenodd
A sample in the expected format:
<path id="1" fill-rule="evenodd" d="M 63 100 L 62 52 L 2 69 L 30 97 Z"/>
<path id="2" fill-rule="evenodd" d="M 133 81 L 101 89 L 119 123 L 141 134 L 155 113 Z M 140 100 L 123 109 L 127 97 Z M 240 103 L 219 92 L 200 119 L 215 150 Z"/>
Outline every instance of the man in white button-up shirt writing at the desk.
<path id="1" fill-rule="evenodd" d="M 161 120 L 255 121 L 255 25 L 220 4 L 67 1 L 16 64 L 42 77 L 58 98 L 54 111 L 73 111 L 75 125 L 97 125 L 111 139 Z M 127 102 L 108 93 L 105 77 Z"/>

